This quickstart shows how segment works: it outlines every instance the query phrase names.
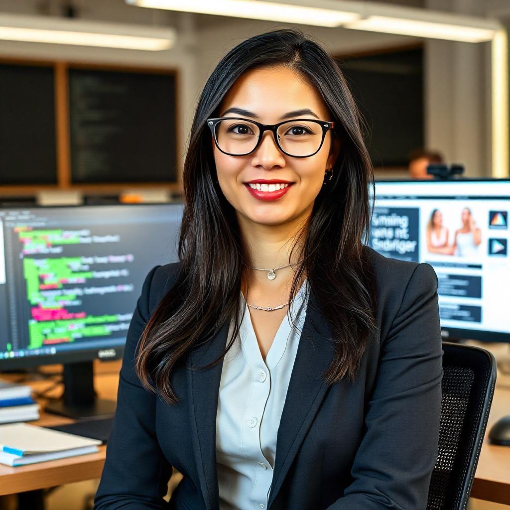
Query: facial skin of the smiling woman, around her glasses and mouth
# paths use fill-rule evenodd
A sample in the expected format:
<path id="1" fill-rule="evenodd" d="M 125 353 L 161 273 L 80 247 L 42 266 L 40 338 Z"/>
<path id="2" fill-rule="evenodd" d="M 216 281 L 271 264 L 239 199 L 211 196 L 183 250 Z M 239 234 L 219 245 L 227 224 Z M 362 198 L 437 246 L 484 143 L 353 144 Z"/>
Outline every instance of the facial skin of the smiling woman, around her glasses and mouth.
<path id="1" fill-rule="evenodd" d="M 229 112 L 231 108 L 246 110 L 252 115 Z M 303 109 L 310 111 L 296 112 Z M 296 112 L 290 119 L 333 120 L 315 88 L 305 83 L 296 72 L 279 66 L 250 70 L 238 78 L 222 101 L 219 116 L 275 124 L 287 120 L 283 117 L 289 112 Z M 316 126 L 321 129 L 319 124 Z M 331 140 L 335 140 L 333 147 Z M 322 188 L 324 172 L 333 166 L 339 151 L 338 140 L 331 137 L 331 131 L 326 133 L 317 154 L 308 158 L 285 155 L 270 131 L 264 133 L 257 150 L 248 156 L 227 156 L 218 150 L 213 139 L 211 143 L 219 186 L 236 209 L 238 219 L 264 225 L 279 225 L 308 217 Z M 283 196 L 267 200 L 249 191 L 248 183 L 260 179 L 290 184 Z"/>

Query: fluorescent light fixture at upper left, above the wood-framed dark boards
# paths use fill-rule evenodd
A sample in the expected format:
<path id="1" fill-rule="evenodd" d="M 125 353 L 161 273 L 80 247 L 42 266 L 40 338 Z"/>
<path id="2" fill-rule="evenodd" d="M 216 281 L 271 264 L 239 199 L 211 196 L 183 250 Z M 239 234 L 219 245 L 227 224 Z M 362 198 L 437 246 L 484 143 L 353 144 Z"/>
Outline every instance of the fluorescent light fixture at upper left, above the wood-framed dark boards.
<path id="1" fill-rule="evenodd" d="M 158 51 L 173 46 L 175 31 L 141 25 L 0 14 L 0 40 Z"/>

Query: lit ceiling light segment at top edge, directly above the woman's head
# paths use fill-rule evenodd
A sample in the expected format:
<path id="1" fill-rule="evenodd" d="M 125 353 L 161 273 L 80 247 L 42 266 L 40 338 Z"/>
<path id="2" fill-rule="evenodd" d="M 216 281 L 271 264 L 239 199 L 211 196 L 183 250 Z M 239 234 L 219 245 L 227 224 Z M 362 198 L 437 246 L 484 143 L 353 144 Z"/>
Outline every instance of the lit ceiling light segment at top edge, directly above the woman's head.
<path id="1" fill-rule="evenodd" d="M 319 27 L 338 27 L 360 17 L 355 12 L 253 0 L 126 0 L 126 3 L 151 9 L 283 21 Z"/>

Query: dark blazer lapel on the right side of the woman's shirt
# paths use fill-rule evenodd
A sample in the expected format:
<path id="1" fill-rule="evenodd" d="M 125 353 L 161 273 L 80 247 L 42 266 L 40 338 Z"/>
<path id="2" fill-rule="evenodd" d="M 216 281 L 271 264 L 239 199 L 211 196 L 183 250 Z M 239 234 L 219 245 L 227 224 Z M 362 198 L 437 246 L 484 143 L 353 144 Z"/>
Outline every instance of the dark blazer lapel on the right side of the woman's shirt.
<path id="1" fill-rule="evenodd" d="M 315 327 L 314 327 L 315 326 Z M 330 330 L 310 292 L 296 360 L 276 438 L 276 457 L 268 508 L 274 501 L 294 457 L 319 409 L 327 385 L 321 375 L 333 360 Z"/>

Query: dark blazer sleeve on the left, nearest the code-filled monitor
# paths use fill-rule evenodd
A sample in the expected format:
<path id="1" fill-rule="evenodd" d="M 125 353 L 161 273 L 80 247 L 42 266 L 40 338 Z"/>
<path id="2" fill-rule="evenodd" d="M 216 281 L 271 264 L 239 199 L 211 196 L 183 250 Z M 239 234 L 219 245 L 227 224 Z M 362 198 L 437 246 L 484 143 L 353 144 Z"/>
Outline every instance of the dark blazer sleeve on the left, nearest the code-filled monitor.
<path id="1" fill-rule="evenodd" d="M 94 510 L 166 508 L 171 466 L 156 438 L 156 395 L 142 387 L 134 362 L 138 340 L 149 318 L 152 277 L 146 276 L 131 319 L 119 376 L 117 409 L 107 443 L 106 462 Z"/>

